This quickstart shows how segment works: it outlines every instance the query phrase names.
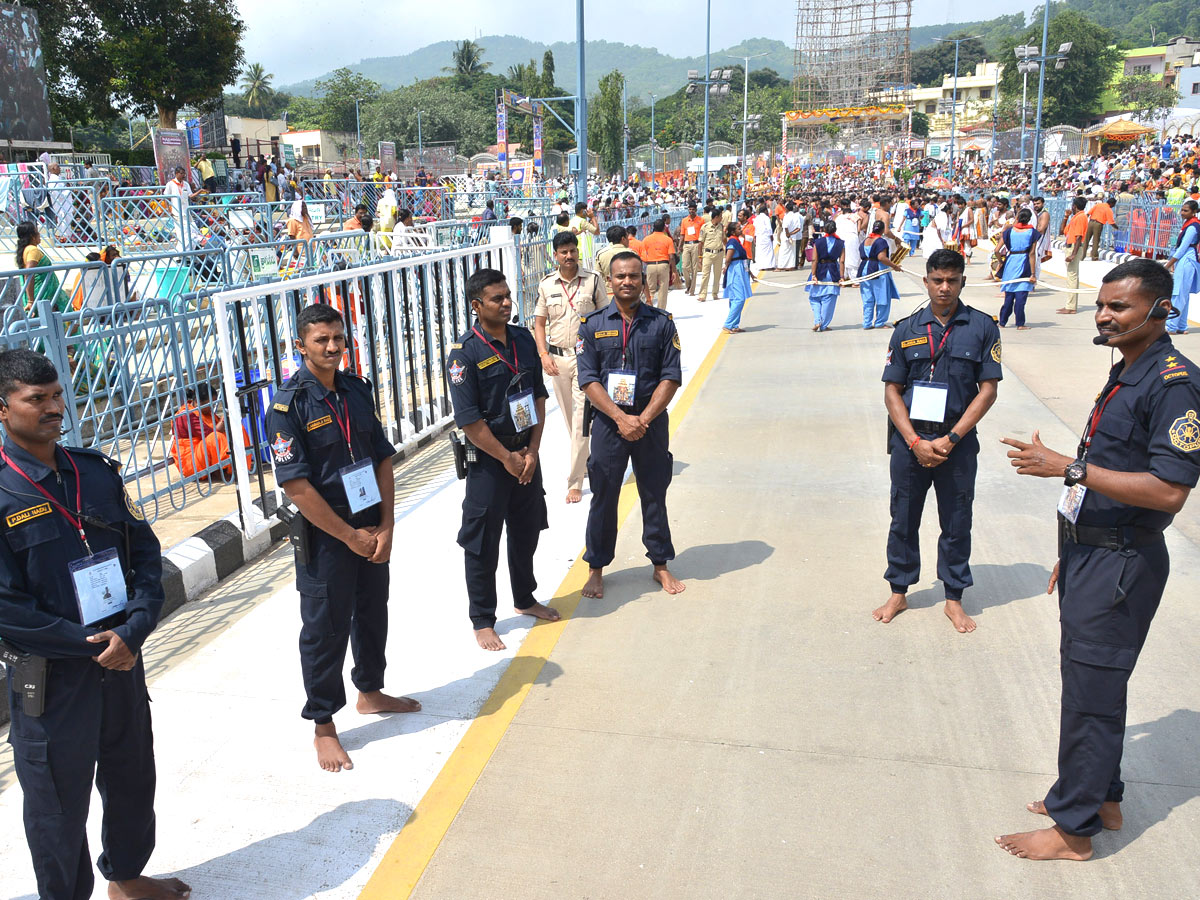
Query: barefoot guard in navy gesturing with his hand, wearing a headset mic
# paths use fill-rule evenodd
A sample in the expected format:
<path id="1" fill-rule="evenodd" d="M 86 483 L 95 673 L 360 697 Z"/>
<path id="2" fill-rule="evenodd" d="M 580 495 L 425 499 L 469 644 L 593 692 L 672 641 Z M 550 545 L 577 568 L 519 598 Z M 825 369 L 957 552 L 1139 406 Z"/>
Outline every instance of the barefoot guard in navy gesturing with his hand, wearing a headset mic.
<path id="1" fill-rule="evenodd" d="M 1063 479 L 1058 562 L 1062 714 L 1058 780 L 1031 812 L 1055 824 L 996 841 L 1030 859 L 1087 859 L 1121 827 L 1126 689 L 1166 587 L 1163 530 L 1200 479 L 1200 370 L 1165 334 L 1171 276 L 1134 259 L 1104 276 L 1096 343 L 1121 353 L 1074 457 L 1006 438 L 1022 475 Z"/>

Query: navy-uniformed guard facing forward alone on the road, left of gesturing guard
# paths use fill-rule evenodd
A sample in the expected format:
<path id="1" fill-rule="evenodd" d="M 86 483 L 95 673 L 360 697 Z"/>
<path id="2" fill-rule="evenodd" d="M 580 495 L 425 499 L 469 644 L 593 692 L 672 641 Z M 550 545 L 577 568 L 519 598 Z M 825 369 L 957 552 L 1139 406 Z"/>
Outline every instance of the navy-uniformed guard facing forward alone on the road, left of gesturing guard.
<path id="1" fill-rule="evenodd" d="M 946 614 L 960 634 L 976 623 L 962 611 L 971 580 L 971 506 L 979 438 L 976 426 L 996 402 L 1000 329 L 990 316 L 959 300 L 966 283 L 962 254 L 938 250 L 925 263 L 929 306 L 896 323 L 883 367 L 890 418 L 892 527 L 888 532 L 888 601 L 871 613 L 888 623 L 907 608 L 908 587 L 920 577 L 920 517 L 930 485 L 937 494 L 942 535 L 937 577 Z"/>

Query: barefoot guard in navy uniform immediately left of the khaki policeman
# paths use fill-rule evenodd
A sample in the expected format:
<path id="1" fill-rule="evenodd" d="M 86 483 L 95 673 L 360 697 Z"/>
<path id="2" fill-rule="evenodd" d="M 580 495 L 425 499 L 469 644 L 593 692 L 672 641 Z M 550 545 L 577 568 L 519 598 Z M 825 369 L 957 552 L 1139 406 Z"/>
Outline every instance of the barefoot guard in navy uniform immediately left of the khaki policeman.
<path id="1" fill-rule="evenodd" d="M 509 325 L 512 293 L 504 274 L 480 269 L 467 278 L 476 316 L 446 356 L 455 424 L 466 434 L 467 466 L 458 546 L 467 570 L 467 599 L 475 640 L 503 650 L 496 634 L 496 568 L 500 530 L 508 528 L 509 580 L 517 612 L 547 622 L 557 611 L 534 600 L 533 556 L 547 527 L 546 492 L 538 451 L 546 419 L 546 384 L 538 344 L 527 329 Z"/>

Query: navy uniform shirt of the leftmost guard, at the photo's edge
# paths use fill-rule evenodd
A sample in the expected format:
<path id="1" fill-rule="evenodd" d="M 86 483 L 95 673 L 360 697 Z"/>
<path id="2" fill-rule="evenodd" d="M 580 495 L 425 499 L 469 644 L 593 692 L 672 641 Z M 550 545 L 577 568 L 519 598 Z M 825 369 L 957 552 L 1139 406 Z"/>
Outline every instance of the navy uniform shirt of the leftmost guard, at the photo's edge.
<path id="1" fill-rule="evenodd" d="M 5 452 L 72 515 L 76 514 L 77 482 L 71 461 L 74 461 L 83 486 L 84 516 L 109 526 L 102 528 L 85 522 L 88 544 L 94 553 L 116 550 L 121 570 L 133 571 L 132 580 L 126 583 L 126 620 L 112 630 L 131 650 L 139 652 L 162 612 L 162 550 L 142 510 L 125 492 L 116 463 L 96 450 L 78 448 L 67 448 L 71 454 L 68 461 L 59 446 L 55 450 L 59 467 L 55 474 L 12 442 L 5 446 Z M 4 527 L 4 538 L 0 539 L 0 637 L 19 650 L 50 659 L 98 655 L 103 646 L 88 643 L 85 638 L 103 629 L 80 624 L 74 584 L 67 569 L 67 563 L 88 556 L 79 532 L 54 504 L 2 461 L 0 524 Z"/>

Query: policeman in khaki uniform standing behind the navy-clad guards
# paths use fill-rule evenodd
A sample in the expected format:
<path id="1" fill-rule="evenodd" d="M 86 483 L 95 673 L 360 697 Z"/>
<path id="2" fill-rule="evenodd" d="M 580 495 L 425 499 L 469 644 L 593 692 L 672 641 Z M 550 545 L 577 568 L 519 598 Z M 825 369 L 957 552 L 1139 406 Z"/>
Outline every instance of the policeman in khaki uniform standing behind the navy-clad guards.
<path id="1" fill-rule="evenodd" d="M 616 245 L 624 250 L 622 245 Z M 566 502 L 583 499 L 588 439 L 583 437 L 583 391 L 575 378 L 576 340 L 580 319 L 608 302 L 600 276 L 580 269 L 578 239 L 559 232 L 553 241 L 558 271 L 538 286 L 533 334 L 538 341 L 541 368 L 554 383 L 558 408 L 571 436 L 571 468 L 566 478 Z"/>

